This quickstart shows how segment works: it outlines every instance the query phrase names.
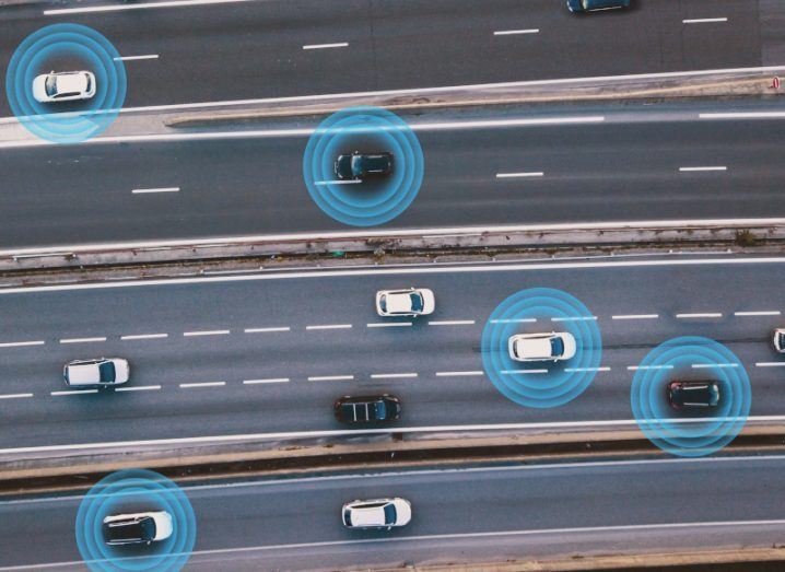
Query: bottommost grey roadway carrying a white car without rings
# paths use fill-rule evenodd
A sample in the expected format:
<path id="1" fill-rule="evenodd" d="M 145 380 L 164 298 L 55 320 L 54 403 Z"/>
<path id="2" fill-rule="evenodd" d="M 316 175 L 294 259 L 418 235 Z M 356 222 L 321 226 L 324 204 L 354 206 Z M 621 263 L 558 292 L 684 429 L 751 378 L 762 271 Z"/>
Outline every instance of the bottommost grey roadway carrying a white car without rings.
<path id="1" fill-rule="evenodd" d="M 197 517 L 186 570 L 196 571 L 227 562 L 237 571 L 335 570 L 764 547 L 782 542 L 785 528 L 772 502 L 785 493 L 783 456 L 434 468 L 184 490 Z M 411 501 L 407 527 L 342 527 L 342 503 L 388 495 Z M 84 570 L 73 539 L 81 500 L 68 493 L 0 500 L 0 570 Z"/>

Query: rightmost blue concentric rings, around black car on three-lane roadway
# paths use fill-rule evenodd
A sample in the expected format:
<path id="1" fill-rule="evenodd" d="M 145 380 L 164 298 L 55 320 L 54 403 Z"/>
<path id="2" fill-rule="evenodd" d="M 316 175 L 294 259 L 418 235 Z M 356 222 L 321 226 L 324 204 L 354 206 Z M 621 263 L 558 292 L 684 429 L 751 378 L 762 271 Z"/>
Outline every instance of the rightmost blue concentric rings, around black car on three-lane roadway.
<path id="1" fill-rule="evenodd" d="M 710 380 L 718 384 L 718 407 L 702 417 L 679 412 L 668 402 L 671 381 Z M 663 451 L 699 457 L 719 451 L 739 434 L 752 404 L 741 361 L 712 339 L 686 336 L 653 349 L 641 362 L 630 392 L 632 412 L 646 437 Z"/>

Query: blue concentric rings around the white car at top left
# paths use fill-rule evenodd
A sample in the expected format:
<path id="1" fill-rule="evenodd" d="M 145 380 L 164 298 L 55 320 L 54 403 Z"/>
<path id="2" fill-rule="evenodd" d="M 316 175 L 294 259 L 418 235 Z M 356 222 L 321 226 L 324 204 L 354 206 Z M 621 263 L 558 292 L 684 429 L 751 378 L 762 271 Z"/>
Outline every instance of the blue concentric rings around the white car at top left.
<path id="1" fill-rule="evenodd" d="M 69 104 L 40 103 L 33 97 L 33 80 L 52 71 L 55 59 L 78 61 L 92 71 L 95 95 Z M 5 94 L 16 119 L 33 135 L 55 143 L 78 143 L 103 132 L 126 100 L 126 68 L 120 55 L 102 34 L 81 24 L 52 24 L 27 36 L 16 48 L 5 72 Z M 68 105 L 69 112 L 57 113 Z"/>

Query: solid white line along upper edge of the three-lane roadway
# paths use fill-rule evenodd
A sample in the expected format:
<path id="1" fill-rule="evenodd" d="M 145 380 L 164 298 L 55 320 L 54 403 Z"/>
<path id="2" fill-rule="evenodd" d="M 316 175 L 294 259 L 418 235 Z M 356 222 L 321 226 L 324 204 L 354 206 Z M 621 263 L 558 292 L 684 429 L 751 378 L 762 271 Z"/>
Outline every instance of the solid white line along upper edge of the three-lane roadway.
<path id="1" fill-rule="evenodd" d="M 771 220 L 766 224 L 772 223 Z M 783 222 L 785 223 L 785 219 Z M 688 224 L 689 225 L 689 224 Z M 574 225 L 567 225 L 574 226 Z M 661 225 L 657 225 L 661 226 Z M 403 231 L 396 232 L 402 234 Z M 245 242 L 245 241 L 244 241 Z M 77 248 L 80 249 L 80 248 Z M 0 256 L 3 253 L 0 250 Z M 128 280 L 117 282 L 92 282 L 82 284 L 52 284 L 40 287 L 15 287 L 0 289 L 0 295 L 4 294 L 30 294 L 38 292 L 68 292 L 74 290 L 104 290 L 113 288 L 139 288 L 151 285 L 181 285 L 201 283 L 225 283 L 243 281 L 263 280 L 292 280 L 305 278 L 337 278 L 337 277 L 360 277 L 360 276 L 406 276 L 406 275 L 445 275 L 445 273 L 484 273 L 484 272 L 512 272 L 512 271 L 563 271 L 587 268 L 656 268 L 656 267 L 743 267 L 748 265 L 784 265 L 785 257 L 729 257 L 729 258 L 670 258 L 664 260 L 616 260 L 616 261 L 582 261 L 582 262 L 516 262 L 504 265 L 479 265 L 479 266 L 410 266 L 401 268 L 361 268 L 353 270 L 303 270 L 297 272 L 283 273 L 256 273 L 239 276 L 211 276 L 194 278 L 162 278 L 152 280 Z"/>

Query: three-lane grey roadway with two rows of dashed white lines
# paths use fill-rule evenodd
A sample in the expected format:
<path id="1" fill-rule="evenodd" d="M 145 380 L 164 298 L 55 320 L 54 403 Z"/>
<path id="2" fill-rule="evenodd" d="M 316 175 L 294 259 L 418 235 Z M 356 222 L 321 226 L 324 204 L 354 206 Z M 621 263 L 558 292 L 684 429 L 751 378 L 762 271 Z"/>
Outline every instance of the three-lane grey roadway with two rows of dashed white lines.
<path id="1" fill-rule="evenodd" d="M 352 433 L 333 419 L 333 399 L 383 392 L 398 395 L 403 412 L 382 432 L 631 422 L 632 367 L 655 346 L 688 335 L 738 355 L 752 385 L 752 417 L 781 416 L 785 360 L 770 335 L 785 320 L 784 269 L 782 258 L 622 257 L 0 290 L 0 453 Z M 376 316 L 377 290 L 410 285 L 433 289 L 432 316 Z M 602 370 L 558 408 L 520 407 L 483 373 L 485 320 L 505 297 L 535 287 L 577 296 L 602 335 Z M 115 393 L 65 386 L 66 362 L 99 355 L 129 359 L 131 381 Z"/>

